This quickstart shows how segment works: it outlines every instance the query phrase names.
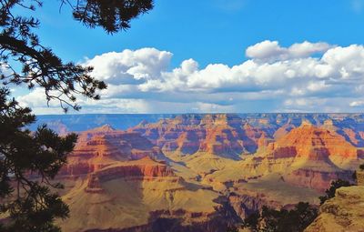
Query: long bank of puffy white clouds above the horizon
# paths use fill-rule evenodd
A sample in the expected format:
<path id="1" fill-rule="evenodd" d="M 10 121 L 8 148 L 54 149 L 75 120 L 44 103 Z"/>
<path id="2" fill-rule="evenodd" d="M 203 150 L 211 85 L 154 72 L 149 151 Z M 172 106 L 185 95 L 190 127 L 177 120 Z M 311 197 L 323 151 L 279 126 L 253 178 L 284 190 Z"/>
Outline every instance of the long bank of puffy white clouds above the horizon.
<path id="1" fill-rule="evenodd" d="M 363 45 L 263 41 L 237 66 L 198 66 L 194 59 L 171 68 L 172 53 L 124 50 L 86 59 L 109 87 L 102 100 L 81 98 L 84 112 L 183 113 L 359 111 L 364 107 Z M 18 100 L 43 107 L 40 90 Z M 43 102 L 43 103 L 41 103 Z M 43 105 L 42 105 L 43 104 Z"/>

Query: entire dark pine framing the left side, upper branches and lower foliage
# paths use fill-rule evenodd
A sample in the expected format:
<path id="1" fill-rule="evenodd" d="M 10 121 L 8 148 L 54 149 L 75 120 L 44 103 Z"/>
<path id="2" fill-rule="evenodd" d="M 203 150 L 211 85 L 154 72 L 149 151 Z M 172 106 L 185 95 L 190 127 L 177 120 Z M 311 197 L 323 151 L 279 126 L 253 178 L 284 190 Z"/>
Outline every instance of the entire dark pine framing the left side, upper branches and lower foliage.
<path id="1" fill-rule="evenodd" d="M 9 100 L 7 86 L 35 86 L 45 91 L 47 103 L 59 102 L 65 112 L 76 110 L 78 96 L 99 99 L 106 84 L 90 73 L 92 67 L 65 63 L 32 31 L 40 25 L 33 16 L 16 15 L 17 8 L 35 11 L 42 0 L 0 0 L 0 231 L 60 231 L 56 218 L 68 217 L 68 207 L 52 188 L 66 163 L 76 135 L 57 136 L 46 126 L 34 133 L 25 126 L 35 122 L 30 108 Z M 101 26 L 113 34 L 153 8 L 152 0 L 61 0 L 75 20 Z M 24 11 L 22 11 L 24 12 Z"/>

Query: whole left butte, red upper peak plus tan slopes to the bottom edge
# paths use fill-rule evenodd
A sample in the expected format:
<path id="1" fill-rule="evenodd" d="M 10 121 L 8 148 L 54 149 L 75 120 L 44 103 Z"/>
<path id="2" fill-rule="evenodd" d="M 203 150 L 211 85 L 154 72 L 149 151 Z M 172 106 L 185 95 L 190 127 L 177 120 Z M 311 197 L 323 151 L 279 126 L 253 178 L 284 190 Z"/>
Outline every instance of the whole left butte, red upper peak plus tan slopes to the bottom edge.
<path id="1" fill-rule="evenodd" d="M 226 230 L 234 222 L 227 215 L 235 214 L 228 201 L 186 181 L 166 160 L 137 132 L 102 126 L 80 133 L 58 177 L 71 212 L 59 225 L 66 232 Z"/>

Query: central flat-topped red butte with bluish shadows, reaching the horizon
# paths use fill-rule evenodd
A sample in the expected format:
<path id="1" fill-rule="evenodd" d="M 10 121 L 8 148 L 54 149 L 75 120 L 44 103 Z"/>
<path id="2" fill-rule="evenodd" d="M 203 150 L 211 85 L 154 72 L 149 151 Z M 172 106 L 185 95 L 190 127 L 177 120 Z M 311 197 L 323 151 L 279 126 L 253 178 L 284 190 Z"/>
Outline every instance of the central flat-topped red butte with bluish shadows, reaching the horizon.
<path id="1" fill-rule="evenodd" d="M 176 116 L 139 124 L 129 131 L 140 132 L 167 152 L 207 152 L 235 159 L 242 153 L 255 152 L 263 134 L 236 115 Z"/>

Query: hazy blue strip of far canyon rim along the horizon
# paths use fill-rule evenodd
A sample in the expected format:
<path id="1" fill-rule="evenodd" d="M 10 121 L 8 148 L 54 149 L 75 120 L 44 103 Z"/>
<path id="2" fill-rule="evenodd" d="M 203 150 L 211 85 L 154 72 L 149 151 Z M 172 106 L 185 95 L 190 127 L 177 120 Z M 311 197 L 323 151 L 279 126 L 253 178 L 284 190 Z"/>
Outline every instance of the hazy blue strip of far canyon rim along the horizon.
<path id="1" fill-rule="evenodd" d="M 137 126 L 142 122 L 148 124 L 157 123 L 160 120 L 174 120 L 183 116 L 188 121 L 193 118 L 199 120 L 206 116 L 226 116 L 227 119 L 241 120 L 248 124 L 259 124 L 259 120 L 269 122 L 280 121 L 281 123 L 291 122 L 299 126 L 303 121 L 308 120 L 312 125 L 323 124 L 326 120 L 341 121 L 349 119 L 357 123 L 364 122 L 364 114 L 359 113 L 220 113 L 220 114 L 78 114 L 78 115 L 41 115 L 36 116 L 35 124 L 29 126 L 35 130 L 37 126 L 48 125 L 53 129 L 64 128 L 69 131 L 85 131 L 99 126 L 110 125 L 116 129 L 126 130 Z M 257 120 L 256 120 L 257 119 Z"/>

